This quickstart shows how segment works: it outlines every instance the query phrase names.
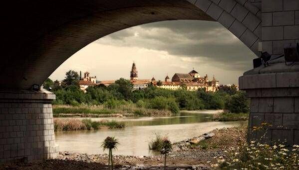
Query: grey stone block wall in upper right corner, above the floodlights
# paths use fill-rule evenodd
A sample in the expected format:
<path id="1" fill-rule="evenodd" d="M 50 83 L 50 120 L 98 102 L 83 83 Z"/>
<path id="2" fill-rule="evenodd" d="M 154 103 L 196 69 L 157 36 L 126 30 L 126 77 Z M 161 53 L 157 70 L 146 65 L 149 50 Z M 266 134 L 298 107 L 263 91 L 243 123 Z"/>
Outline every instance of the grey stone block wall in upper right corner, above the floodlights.
<path id="1" fill-rule="evenodd" d="M 284 44 L 299 42 L 299 0 L 262 0 L 263 51 L 284 53 Z"/>

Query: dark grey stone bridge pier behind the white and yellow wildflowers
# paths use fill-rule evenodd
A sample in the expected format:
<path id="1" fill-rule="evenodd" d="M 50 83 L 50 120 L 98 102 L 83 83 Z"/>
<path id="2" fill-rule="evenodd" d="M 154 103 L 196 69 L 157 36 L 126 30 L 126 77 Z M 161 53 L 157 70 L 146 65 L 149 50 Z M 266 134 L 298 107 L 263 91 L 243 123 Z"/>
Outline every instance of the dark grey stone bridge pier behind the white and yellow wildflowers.
<path id="1" fill-rule="evenodd" d="M 299 144 L 299 65 L 283 63 L 261 66 L 244 73 L 239 78 L 240 89 L 246 90 L 251 99 L 249 140 L 268 144 L 287 141 Z M 269 123 L 265 130 L 253 131 Z"/>

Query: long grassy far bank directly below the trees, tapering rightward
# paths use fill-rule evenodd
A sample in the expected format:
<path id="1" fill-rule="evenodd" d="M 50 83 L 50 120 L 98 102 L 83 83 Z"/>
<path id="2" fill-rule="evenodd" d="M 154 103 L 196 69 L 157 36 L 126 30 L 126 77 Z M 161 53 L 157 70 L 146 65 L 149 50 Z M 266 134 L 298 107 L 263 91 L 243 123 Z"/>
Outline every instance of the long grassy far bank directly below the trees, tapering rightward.
<path id="1" fill-rule="evenodd" d="M 107 108 L 104 105 L 53 105 L 53 117 L 121 117 L 121 116 L 170 116 L 169 110 L 137 107 L 135 104 Z"/>

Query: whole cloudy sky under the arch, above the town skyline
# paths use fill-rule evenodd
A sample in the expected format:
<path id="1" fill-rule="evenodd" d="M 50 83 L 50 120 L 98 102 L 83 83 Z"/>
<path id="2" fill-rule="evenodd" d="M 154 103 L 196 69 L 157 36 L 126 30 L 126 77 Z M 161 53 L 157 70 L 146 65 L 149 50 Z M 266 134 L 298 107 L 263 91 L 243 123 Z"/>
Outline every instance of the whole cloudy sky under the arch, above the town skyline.
<path id="1" fill-rule="evenodd" d="M 129 79 L 133 61 L 139 79 L 164 80 L 168 74 L 193 68 L 221 84 L 238 84 L 252 68 L 255 54 L 218 22 L 162 21 L 127 28 L 90 43 L 66 60 L 51 76 L 63 80 L 65 72 L 90 72 L 97 80 Z"/>

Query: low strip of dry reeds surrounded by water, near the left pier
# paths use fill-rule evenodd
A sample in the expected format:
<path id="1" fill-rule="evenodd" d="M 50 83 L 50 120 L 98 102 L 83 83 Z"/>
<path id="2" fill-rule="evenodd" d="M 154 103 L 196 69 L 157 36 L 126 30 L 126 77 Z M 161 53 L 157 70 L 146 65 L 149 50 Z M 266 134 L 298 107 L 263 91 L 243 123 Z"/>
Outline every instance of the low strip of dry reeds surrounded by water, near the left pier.
<path id="1" fill-rule="evenodd" d="M 92 121 L 91 119 L 60 119 L 54 118 L 54 131 L 97 130 L 100 127 L 124 128 L 123 122 L 116 121 Z"/>

